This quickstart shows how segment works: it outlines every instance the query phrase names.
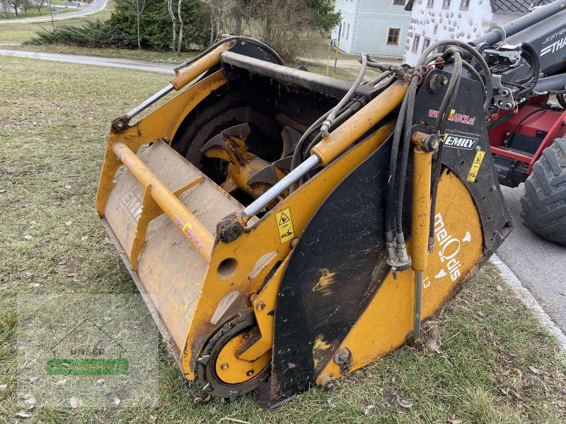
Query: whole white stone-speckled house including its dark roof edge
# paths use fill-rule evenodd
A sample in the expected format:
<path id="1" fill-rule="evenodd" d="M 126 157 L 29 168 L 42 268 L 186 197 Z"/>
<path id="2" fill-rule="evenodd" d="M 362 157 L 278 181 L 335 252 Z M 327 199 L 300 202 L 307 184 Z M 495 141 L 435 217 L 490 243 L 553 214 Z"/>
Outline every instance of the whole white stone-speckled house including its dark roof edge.
<path id="1" fill-rule="evenodd" d="M 473 41 L 492 25 L 505 25 L 529 12 L 533 2 L 553 0 L 413 0 L 404 61 L 415 64 L 430 44 L 443 39 Z"/>

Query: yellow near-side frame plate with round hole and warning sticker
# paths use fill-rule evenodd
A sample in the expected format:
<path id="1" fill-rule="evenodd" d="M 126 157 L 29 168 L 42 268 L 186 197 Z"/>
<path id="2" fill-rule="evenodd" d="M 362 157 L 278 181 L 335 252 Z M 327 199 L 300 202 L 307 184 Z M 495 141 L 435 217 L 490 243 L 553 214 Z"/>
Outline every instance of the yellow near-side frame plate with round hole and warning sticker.
<path id="1" fill-rule="evenodd" d="M 240 358 L 253 360 L 258 358 L 262 352 L 271 349 L 273 345 L 274 316 L 270 315 L 269 312 L 273 310 L 275 302 L 277 302 L 277 293 L 279 292 L 279 285 L 284 273 L 284 266 L 287 264 L 287 258 L 289 252 L 291 252 L 290 240 L 284 244 L 281 244 L 279 241 L 279 230 L 275 215 L 290 208 L 293 211 L 292 220 L 295 237 L 300 237 L 308 221 L 311 220 L 313 213 L 318 210 L 318 207 L 328 194 L 359 163 L 368 158 L 376 148 L 381 146 L 391 134 L 391 131 L 393 131 L 394 124 L 394 122 L 391 122 L 381 126 L 371 136 L 358 143 L 335 160 L 335 162 L 328 165 L 328 167 L 325 167 L 323 172 L 319 172 L 315 177 L 309 179 L 306 184 L 299 187 L 299 189 L 279 202 L 275 208 L 267 212 L 248 232 L 244 232 L 243 235 L 238 237 L 238 240 L 231 243 L 219 242 L 216 245 L 209 269 L 216 269 L 220 261 L 226 257 L 236 258 L 238 260 L 238 269 L 233 277 L 223 284 L 219 284 L 218 278 L 214 275 L 215 273 L 210 272 L 207 273 L 206 278 L 202 282 L 200 299 L 195 312 L 190 318 L 191 324 L 187 329 L 187 341 L 185 349 L 181 354 L 183 372 L 185 372 L 187 379 L 195 377 L 195 361 L 202 349 L 202 343 L 207 340 L 209 334 L 212 334 L 217 327 L 210 323 L 210 318 L 214 314 L 218 303 L 231 290 L 238 290 L 245 294 L 245 296 L 238 297 L 234 302 L 232 306 L 234 312 L 249 307 L 248 296 L 252 293 L 259 293 L 253 300 L 253 307 L 262 337 L 248 351 L 241 353 Z M 282 265 L 275 271 L 270 281 L 265 283 L 265 277 L 272 270 L 272 266 L 266 266 L 265 269 L 250 280 L 248 276 L 250 276 L 258 259 L 265 252 L 272 251 L 278 252 L 273 257 L 272 263 L 276 264 L 277 261 L 282 261 Z M 263 301 L 266 305 L 261 311 L 257 307 L 260 301 Z"/>

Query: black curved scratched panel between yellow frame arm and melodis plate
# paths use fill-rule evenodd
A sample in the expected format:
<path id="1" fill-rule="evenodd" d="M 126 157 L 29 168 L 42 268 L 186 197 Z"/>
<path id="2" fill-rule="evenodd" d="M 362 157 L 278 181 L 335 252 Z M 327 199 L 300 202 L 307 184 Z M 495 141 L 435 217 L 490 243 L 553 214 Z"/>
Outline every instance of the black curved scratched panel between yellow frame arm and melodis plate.
<path id="1" fill-rule="evenodd" d="M 328 362 L 324 353 L 334 354 L 388 272 L 381 257 L 390 155 L 391 139 L 328 196 L 293 249 L 275 310 L 279 396 L 313 384 L 315 363 Z M 317 343 L 333 348 L 316 351 Z"/>

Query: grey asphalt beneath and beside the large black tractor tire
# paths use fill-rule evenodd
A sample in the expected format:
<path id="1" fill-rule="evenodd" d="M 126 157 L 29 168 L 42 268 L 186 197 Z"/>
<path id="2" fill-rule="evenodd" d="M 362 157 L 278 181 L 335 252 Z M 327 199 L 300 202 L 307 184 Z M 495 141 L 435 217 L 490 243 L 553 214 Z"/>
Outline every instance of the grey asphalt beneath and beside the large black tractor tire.
<path id="1" fill-rule="evenodd" d="M 501 189 L 515 228 L 497 249 L 497 256 L 566 333 L 566 247 L 546 241 L 521 224 L 519 199 L 523 184 L 515 189 Z"/>

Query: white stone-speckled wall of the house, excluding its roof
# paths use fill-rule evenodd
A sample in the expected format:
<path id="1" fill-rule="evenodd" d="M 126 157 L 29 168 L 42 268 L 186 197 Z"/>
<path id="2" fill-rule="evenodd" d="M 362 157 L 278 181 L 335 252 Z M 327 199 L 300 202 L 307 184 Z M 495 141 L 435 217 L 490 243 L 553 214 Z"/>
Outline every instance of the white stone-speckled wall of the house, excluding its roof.
<path id="1" fill-rule="evenodd" d="M 492 20 L 495 20 L 494 17 L 501 22 L 496 21 L 499 25 L 517 17 L 502 13 L 496 13 L 494 16 L 489 0 L 470 0 L 468 11 L 461 10 L 461 0 L 451 0 L 449 8 L 443 8 L 442 4 L 442 0 L 434 0 L 434 5 L 430 7 L 427 6 L 427 0 L 415 0 L 405 43 L 406 63 L 416 63 L 422 53 L 425 37 L 430 39 L 431 45 L 444 39 L 471 41 L 487 32 L 492 26 Z M 420 37 L 417 52 L 412 51 L 415 35 Z"/>

